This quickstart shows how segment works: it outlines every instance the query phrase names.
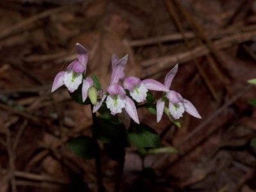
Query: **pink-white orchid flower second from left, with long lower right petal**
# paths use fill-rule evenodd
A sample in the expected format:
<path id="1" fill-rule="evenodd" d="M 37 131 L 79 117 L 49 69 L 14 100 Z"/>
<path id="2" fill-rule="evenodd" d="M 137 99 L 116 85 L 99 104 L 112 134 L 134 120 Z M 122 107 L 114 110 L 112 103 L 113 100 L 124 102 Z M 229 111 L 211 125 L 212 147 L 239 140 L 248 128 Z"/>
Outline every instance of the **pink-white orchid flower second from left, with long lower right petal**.
<path id="1" fill-rule="evenodd" d="M 126 93 L 124 88 L 118 84 L 118 81 L 124 77 L 124 67 L 127 63 L 128 55 L 125 55 L 124 58 L 122 58 L 120 61 L 116 58 L 115 55 L 113 55 L 112 60 L 112 75 L 111 75 L 111 81 L 110 85 L 108 87 L 108 93 L 109 95 L 102 97 L 102 99 L 94 106 L 93 112 L 96 112 L 102 102 L 106 99 L 107 108 L 110 109 L 112 115 L 116 115 L 117 113 L 122 113 L 122 110 L 124 109 L 125 112 L 136 122 L 137 124 L 140 124 L 138 113 L 136 110 L 136 106 L 132 99 L 130 99 Z"/>

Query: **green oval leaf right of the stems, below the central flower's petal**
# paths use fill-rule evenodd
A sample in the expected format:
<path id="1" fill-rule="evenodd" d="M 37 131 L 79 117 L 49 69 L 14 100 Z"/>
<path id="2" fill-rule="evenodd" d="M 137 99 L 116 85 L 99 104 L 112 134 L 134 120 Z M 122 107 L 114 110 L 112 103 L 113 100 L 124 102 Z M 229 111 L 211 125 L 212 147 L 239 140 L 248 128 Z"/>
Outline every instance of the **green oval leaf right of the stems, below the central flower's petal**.
<path id="1" fill-rule="evenodd" d="M 128 130 L 129 141 L 136 147 L 160 147 L 157 132 L 146 124 L 134 124 Z"/>

